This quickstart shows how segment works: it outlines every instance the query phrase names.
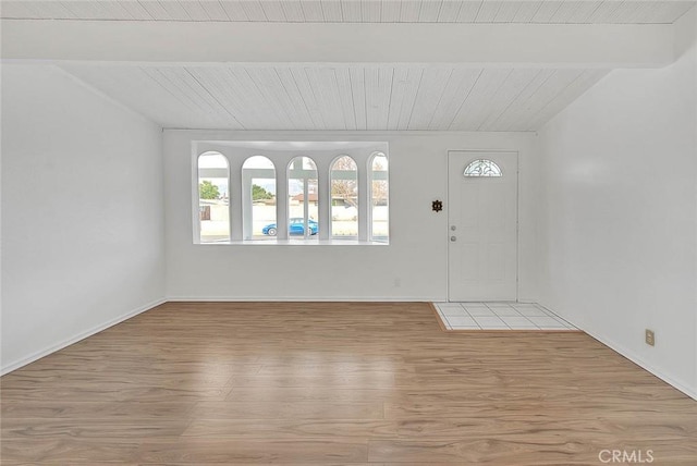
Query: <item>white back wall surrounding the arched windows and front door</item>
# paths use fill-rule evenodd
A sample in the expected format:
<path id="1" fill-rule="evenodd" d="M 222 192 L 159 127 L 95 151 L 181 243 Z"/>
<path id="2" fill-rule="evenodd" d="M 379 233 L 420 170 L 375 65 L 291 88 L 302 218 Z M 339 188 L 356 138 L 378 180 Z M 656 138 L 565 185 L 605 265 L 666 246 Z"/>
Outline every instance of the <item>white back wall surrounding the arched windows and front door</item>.
<path id="1" fill-rule="evenodd" d="M 384 140 L 390 156 L 389 246 L 194 245 L 192 140 Z M 536 297 L 535 136 L 506 133 L 234 133 L 166 131 L 169 299 L 447 299 L 447 156 L 518 150 L 521 299 Z"/>

